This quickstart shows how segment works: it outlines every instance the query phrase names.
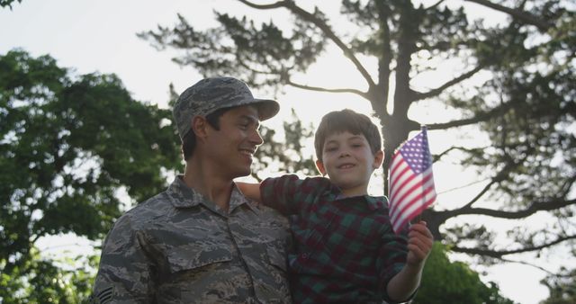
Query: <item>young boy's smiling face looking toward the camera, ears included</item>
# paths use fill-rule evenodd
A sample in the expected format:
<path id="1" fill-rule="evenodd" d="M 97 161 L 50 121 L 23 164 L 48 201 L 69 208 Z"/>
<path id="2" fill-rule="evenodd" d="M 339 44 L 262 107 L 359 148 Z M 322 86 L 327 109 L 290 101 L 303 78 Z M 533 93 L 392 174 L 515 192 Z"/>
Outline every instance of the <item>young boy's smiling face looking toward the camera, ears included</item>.
<path id="1" fill-rule="evenodd" d="M 326 138 L 316 165 L 345 195 L 353 196 L 367 193 L 370 176 L 382 161 L 383 151 L 373 154 L 364 135 L 345 131 Z"/>

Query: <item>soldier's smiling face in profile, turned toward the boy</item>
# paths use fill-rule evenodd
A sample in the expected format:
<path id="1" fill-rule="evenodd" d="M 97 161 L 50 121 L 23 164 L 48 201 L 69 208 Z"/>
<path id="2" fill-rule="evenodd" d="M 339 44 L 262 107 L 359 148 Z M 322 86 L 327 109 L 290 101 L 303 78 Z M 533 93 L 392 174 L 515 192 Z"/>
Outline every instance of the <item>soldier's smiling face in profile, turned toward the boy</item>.
<path id="1" fill-rule="evenodd" d="M 229 178 L 250 174 L 252 157 L 262 144 L 255 106 L 240 106 L 220 116 L 220 130 L 211 127 L 207 137 L 206 156 Z"/>

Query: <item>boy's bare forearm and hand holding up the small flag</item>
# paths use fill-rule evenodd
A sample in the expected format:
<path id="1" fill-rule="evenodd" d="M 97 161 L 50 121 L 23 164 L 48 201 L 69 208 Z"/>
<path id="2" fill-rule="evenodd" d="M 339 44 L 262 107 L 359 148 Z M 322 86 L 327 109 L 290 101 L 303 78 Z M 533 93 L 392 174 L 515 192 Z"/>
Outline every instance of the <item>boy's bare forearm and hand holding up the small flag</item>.
<path id="1" fill-rule="evenodd" d="M 432 250 L 434 238 L 425 221 L 410 226 L 408 256 L 400 273 L 392 277 L 386 291 L 392 300 L 404 301 L 416 291 L 422 277 L 422 269 Z"/>

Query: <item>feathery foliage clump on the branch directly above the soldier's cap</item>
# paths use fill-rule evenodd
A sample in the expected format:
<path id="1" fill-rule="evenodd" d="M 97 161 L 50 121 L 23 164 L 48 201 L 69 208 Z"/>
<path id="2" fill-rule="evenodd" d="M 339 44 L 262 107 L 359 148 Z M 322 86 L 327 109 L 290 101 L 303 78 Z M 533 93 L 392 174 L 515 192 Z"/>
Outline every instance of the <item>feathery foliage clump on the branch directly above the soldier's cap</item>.
<path id="1" fill-rule="evenodd" d="M 322 17 L 320 13 L 318 17 Z M 285 37 L 273 22 L 257 26 L 246 17 L 227 13 L 216 13 L 216 19 L 225 30 L 195 31 L 178 14 L 180 23 L 174 28 L 158 26 L 157 32 L 142 32 L 139 37 L 151 40 L 157 49 L 185 49 L 184 56 L 175 62 L 192 65 L 203 76 L 239 74 L 247 83 L 258 85 L 275 85 L 277 76 L 306 70 L 324 49 L 320 31 L 302 20 L 296 20 L 293 31 Z"/>

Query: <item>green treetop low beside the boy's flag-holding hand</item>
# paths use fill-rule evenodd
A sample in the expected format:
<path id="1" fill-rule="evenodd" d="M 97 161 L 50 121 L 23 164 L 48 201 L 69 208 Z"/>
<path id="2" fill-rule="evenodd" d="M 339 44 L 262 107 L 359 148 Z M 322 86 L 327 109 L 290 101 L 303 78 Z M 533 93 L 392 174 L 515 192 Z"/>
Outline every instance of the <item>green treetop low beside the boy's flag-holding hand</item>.
<path id="1" fill-rule="evenodd" d="M 422 273 L 414 304 L 513 304 L 500 295 L 494 282 L 485 284 L 478 273 L 462 262 L 450 262 L 446 246 L 434 244 Z"/>

